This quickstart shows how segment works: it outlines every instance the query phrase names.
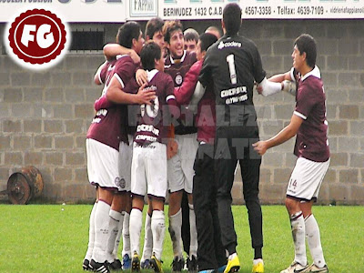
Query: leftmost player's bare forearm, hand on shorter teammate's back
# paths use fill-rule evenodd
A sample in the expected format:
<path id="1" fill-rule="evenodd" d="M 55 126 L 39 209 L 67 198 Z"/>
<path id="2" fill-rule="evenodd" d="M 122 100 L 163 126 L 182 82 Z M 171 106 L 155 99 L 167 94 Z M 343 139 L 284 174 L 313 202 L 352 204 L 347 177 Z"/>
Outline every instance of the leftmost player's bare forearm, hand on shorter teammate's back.
<path id="1" fill-rule="evenodd" d="M 137 104 L 137 105 L 151 105 L 151 100 L 156 98 L 156 92 L 152 90 L 145 90 L 146 85 L 140 86 L 136 94 L 126 93 L 118 76 L 113 76 L 110 85 L 106 90 L 106 99 L 116 104 Z"/>

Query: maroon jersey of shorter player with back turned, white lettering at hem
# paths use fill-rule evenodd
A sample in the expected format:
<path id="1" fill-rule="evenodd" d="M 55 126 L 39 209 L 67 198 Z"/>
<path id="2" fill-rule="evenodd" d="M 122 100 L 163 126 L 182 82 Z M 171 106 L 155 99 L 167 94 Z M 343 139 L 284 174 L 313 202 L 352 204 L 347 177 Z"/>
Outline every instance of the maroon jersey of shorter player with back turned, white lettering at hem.
<path id="1" fill-rule="evenodd" d="M 147 72 L 147 74 L 148 85 L 146 89 L 155 91 L 156 98 L 151 106 L 140 106 L 141 116 L 136 126 L 134 141 L 141 146 L 152 142 L 167 143 L 167 128 L 170 122 L 164 120 L 169 116 L 169 113 L 164 112 L 169 112 L 167 105 L 177 106 L 173 94 L 172 77 L 166 73 L 158 72 L 157 69 Z"/>

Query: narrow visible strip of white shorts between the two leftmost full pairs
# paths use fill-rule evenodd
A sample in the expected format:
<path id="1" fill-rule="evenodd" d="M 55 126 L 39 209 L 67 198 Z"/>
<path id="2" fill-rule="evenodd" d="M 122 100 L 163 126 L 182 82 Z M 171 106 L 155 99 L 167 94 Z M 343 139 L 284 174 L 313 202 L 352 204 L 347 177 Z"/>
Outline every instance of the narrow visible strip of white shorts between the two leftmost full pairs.
<path id="1" fill-rule="evenodd" d="M 133 157 L 133 136 L 127 136 L 129 145 L 120 142 L 119 145 L 119 175 L 123 191 L 130 191 L 131 185 L 131 160 Z"/>

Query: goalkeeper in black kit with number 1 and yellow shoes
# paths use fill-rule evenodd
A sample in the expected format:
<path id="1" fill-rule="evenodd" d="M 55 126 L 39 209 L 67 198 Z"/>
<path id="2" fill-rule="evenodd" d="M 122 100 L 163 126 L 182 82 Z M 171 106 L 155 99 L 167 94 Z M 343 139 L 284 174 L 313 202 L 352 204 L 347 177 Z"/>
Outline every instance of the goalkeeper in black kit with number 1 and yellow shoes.
<path id="1" fill-rule="evenodd" d="M 264 272 L 262 213 L 258 198 L 261 157 L 251 148 L 251 144 L 259 138 L 253 86 L 257 82 L 263 88 L 273 86 L 280 90 L 280 84 L 269 84 L 257 46 L 238 35 L 240 25 L 239 5 L 227 4 L 222 20 L 224 35 L 207 50 L 199 81 L 202 86 L 207 86 L 213 80 L 216 94 L 215 175 L 222 242 L 228 252 L 225 272 L 238 271 L 240 268 L 236 249 L 237 234 L 231 211 L 231 188 L 239 162 L 254 248 L 252 272 L 260 273 Z"/>

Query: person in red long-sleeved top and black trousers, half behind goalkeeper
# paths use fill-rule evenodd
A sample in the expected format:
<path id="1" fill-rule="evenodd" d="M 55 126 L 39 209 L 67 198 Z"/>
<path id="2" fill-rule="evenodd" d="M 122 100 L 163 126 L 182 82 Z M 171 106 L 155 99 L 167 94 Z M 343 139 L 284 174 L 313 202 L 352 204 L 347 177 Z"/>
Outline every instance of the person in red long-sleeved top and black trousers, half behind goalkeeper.
<path id="1" fill-rule="evenodd" d="M 177 103 L 187 105 L 195 90 L 207 48 L 217 41 L 212 34 L 202 34 L 197 42 L 197 62 L 186 74 L 182 86 L 175 88 Z M 190 107 L 190 106 L 188 106 Z M 227 258 L 221 242 L 217 216 L 217 185 L 214 173 L 214 139 L 216 131 L 215 93 L 212 83 L 207 86 L 197 107 L 197 141 L 193 184 L 194 208 L 197 224 L 197 264 L 202 273 L 223 272 Z"/>

